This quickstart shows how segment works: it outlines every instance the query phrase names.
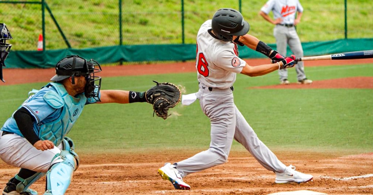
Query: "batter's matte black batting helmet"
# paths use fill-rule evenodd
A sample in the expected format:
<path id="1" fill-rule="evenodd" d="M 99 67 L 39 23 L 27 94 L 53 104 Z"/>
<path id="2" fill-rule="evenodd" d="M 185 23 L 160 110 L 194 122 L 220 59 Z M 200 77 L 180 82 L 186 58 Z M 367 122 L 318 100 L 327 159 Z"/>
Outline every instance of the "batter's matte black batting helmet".
<path id="1" fill-rule="evenodd" d="M 246 35 L 250 25 L 244 20 L 242 14 L 235 9 L 223 8 L 215 12 L 212 22 L 212 30 L 223 41 L 232 41 L 233 35 Z"/>

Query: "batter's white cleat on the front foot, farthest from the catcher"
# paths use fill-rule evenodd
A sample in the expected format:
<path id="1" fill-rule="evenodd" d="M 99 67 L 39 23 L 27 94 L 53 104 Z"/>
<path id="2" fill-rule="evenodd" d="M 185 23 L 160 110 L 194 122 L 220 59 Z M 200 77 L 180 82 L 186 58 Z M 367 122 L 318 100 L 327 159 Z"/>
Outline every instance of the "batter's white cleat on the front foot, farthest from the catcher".
<path id="1" fill-rule="evenodd" d="M 275 183 L 308 182 L 313 178 L 310 174 L 304 174 L 295 170 L 295 166 L 289 165 L 283 173 L 276 172 Z"/>

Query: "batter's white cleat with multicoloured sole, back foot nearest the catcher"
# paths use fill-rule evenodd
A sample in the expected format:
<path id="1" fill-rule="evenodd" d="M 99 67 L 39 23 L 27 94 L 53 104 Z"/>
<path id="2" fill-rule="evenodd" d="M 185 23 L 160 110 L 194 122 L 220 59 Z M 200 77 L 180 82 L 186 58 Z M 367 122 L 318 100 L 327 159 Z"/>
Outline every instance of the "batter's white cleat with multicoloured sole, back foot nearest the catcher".
<path id="1" fill-rule="evenodd" d="M 173 168 L 171 163 L 166 163 L 158 169 L 158 174 L 162 176 L 162 179 L 169 180 L 175 189 L 190 189 L 190 186 L 183 181 L 181 173 L 178 169 Z"/>

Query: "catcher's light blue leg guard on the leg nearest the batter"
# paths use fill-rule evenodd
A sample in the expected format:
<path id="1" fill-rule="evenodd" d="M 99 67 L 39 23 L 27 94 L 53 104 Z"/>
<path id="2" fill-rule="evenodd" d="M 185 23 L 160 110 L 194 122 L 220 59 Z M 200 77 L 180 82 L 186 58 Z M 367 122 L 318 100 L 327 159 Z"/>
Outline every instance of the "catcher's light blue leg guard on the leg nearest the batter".
<path id="1" fill-rule="evenodd" d="M 52 165 L 47 172 L 47 192 L 51 194 L 65 194 L 68 189 L 72 173 L 75 168 L 74 156 L 70 151 L 63 150 L 57 160 L 62 160 L 59 163 Z"/>

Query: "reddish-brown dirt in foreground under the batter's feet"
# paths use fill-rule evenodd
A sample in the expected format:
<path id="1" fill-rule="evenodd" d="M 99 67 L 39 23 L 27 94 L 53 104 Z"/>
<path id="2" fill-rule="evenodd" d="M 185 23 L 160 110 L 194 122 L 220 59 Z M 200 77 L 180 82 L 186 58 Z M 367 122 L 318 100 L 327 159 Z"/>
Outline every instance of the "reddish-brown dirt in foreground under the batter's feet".
<path id="1" fill-rule="evenodd" d="M 199 151 L 195 151 L 199 152 Z M 79 155 L 81 165 L 74 172 L 66 194 L 177 194 L 177 195 L 261 195 L 309 190 L 334 195 L 373 194 L 373 153 L 339 156 L 332 153 L 276 152 L 286 165 L 292 164 L 314 176 L 307 183 L 276 184 L 275 174 L 264 169 L 248 152 L 232 151 L 229 162 L 184 178 L 190 191 L 175 190 L 162 180 L 157 169 L 195 152 L 162 151 L 153 154 Z M 0 163 L 0 183 L 5 185 L 18 169 Z M 45 179 L 33 189 L 43 192 Z"/>

